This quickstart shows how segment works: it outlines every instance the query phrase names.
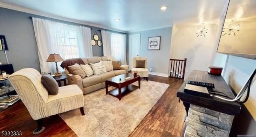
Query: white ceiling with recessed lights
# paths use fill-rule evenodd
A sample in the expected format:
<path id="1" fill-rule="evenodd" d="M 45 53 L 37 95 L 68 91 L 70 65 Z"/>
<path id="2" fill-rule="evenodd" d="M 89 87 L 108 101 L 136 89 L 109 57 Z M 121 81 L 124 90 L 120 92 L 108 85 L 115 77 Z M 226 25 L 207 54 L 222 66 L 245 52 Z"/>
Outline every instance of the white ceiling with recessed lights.
<path id="1" fill-rule="evenodd" d="M 108 29 L 126 32 L 204 23 L 220 18 L 227 0 L 0 0 Z M 162 12 L 161 6 L 167 6 Z M 9 5 L 9 7 L 11 7 Z M 29 10 L 28 10 L 29 11 Z M 120 19 L 120 22 L 115 22 Z"/>

